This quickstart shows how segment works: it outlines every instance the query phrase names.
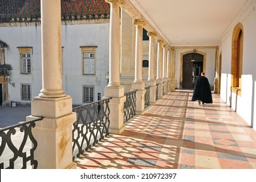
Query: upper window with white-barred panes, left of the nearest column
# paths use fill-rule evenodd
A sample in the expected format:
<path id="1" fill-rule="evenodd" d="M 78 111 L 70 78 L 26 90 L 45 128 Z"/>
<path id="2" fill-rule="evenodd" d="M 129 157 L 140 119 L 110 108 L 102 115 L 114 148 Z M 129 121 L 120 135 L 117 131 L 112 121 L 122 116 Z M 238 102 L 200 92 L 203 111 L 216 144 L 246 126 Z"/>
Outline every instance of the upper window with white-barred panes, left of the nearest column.
<path id="1" fill-rule="evenodd" d="M 20 73 L 30 74 L 31 73 L 31 47 L 18 47 L 20 52 Z"/>

